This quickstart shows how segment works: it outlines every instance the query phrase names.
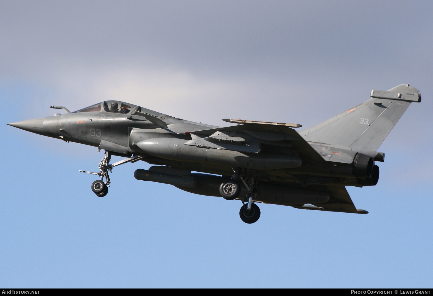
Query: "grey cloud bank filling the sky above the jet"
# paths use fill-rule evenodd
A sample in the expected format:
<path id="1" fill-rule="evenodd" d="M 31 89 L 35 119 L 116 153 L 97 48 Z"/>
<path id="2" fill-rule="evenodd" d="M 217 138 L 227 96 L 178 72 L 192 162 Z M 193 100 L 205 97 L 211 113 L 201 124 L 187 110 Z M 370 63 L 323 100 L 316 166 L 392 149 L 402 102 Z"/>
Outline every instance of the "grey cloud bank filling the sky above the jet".
<path id="1" fill-rule="evenodd" d="M 309 126 L 373 88 L 410 82 L 431 93 L 428 1 L 0 6 L 0 77 L 49 90 L 35 98 L 44 106 L 118 98 L 212 124 L 241 117 Z"/>

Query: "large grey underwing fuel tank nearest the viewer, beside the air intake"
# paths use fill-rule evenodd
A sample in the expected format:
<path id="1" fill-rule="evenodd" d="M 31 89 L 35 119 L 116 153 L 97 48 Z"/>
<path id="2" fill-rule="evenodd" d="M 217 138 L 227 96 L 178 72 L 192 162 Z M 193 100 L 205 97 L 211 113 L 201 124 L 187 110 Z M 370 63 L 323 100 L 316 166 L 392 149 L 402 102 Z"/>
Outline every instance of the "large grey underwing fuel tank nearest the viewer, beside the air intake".
<path id="1" fill-rule="evenodd" d="M 206 162 L 256 170 L 300 167 L 302 164 L 302 159 L 297 155 L 268 152 L 244 154 L 239 151 L 184 145 L 186 142 L 187 140 L 178 138 L 151 138 L 136 145 L 147 154 L 175 161 Z"/>

